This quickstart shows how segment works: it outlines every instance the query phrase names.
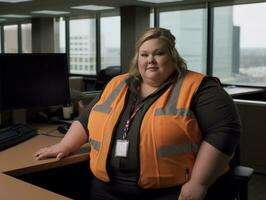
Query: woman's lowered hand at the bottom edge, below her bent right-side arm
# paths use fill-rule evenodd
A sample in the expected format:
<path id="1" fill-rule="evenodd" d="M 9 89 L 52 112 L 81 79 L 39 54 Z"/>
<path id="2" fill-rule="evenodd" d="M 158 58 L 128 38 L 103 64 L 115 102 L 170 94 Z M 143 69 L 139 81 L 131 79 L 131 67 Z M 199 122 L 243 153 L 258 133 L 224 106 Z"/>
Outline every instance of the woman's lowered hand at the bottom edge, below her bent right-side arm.
<path id="1" fill-rule="evenodd" d="M 182 186 L 178 200 L 203 200 L 207 191 L 207 185 L 190 180 Z"/>

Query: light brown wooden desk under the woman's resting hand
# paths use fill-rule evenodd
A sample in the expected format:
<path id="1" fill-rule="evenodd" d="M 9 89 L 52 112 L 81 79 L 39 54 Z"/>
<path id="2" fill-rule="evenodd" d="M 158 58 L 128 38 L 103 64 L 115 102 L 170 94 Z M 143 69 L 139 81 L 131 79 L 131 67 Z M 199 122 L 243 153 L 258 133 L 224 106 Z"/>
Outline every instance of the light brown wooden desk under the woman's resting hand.
<path id="1" fill-rule="evenodd" d="M 56 126 L 40 126 L 40 135 L 23 143 L 0 151 L 0 199 L 1 200 L 53 200 L 69 199 L 43 188 L 16 179 L 15 176 L 66 166 L 88 160 L 88 145 L 60 161 L 54 158 L 37 161 L 34 153 L 41 147 L 55 144 L 61 140 Z M 49 132 L 57 137 L 41 135 Z M 62 135 L 61 135 L 62 136 Z"/>

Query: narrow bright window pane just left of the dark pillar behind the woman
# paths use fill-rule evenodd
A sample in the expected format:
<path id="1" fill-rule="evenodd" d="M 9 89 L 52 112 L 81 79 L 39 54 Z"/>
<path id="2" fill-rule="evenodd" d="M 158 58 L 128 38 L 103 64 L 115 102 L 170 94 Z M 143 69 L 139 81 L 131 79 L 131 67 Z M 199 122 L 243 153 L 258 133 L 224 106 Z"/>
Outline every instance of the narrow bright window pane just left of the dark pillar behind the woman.
<path id="1" fill-rule="evenodd" d="M 120 16 L 101 17 L 101 68 L 120 65 Z"/>

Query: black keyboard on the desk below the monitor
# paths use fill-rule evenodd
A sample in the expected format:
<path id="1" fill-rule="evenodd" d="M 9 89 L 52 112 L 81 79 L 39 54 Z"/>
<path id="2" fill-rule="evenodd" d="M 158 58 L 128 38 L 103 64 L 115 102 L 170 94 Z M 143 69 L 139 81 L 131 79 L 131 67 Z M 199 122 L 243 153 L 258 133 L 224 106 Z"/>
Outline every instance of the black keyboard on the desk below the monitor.
<path id="1" fill-rule="evenodd" d="M 0 130 L 0 150 L 12 147 L 37 135 L 37 130 L 25 124 L 16 124 Z"/>

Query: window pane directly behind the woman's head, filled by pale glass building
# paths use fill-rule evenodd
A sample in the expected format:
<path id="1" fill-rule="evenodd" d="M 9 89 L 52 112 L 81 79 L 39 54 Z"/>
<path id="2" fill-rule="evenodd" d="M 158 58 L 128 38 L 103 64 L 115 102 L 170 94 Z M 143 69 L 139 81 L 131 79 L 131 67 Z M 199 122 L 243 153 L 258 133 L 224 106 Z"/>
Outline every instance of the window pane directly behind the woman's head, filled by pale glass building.
<path id="1" fill-rule="evenodd" d="M 207 10 L 163 11 L 159 23 L 176 37 L 176 48 L 188 69 L 206 73 Z"/>

